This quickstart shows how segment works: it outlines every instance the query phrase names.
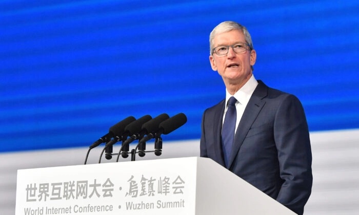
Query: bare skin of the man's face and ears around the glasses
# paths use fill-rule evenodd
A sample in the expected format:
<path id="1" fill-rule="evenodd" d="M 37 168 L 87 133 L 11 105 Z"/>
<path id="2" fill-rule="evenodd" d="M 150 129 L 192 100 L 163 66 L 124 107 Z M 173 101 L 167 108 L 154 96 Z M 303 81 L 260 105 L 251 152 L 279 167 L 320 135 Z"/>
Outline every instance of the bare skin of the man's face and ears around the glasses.
<path id="1" fill-rule="evenodd" d="M 232 30 L 229 32 L 217 34 L 213 38 L 213 48 L 217 46 L 230 46 L 238 42 L 246 43 L 246 38 L 241 30 Z M 214 71 L 218 71 L 224 82 L 230 84 L 242 83 L 248 79 L 251 74 L 251 66 L 254 65 L 256 53 L 247 47 L 247 51 L 235 53 L 230 47 L 225 55 L 209 56 L 211 67 Z"/>

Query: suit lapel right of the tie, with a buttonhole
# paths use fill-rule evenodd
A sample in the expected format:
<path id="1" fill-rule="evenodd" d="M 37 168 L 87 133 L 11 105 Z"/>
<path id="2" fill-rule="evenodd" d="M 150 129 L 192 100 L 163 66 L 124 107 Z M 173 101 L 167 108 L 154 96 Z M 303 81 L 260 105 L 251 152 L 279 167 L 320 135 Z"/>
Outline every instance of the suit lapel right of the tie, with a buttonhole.
<path id="1" fill-rule="evenodd" d="M 262 99 L 267 96 L 267 93 L 268 87 L 261 80 L 258 80 L 258 85 L 248 101 L 240 124 L 238 124 L 237 131 L 234 135 L 232 151 L 228 161 L 228 168 L 232 165 L 234 158 L 238 154 L 238 151 L 240 150 L 242 143 L 247 136 L 249 128 L 252 126 L 253 122 L 266 103 Z"/>

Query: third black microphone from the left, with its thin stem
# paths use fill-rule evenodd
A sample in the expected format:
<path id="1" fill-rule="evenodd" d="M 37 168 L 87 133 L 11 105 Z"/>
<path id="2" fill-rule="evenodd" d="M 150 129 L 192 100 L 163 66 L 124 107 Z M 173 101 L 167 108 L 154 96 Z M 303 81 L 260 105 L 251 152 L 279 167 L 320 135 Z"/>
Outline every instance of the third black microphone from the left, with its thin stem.
<path id="1" fill-rule="evenodd" d="M 142 131 L 147 135 L 152 134 L 152 133 L 154 135 L 155 132 L 158 130 L 159 123 L 165 121 L 168 118 L 170 118 L 168 116 L 168 114 L 160 114 L 160 115 L 156 116 L 155 118 L 151 119 L 150 121 L 144 123 L 142 125 Z M 138 141 L 138 144 L 135 148 L 135 153 L 136 153 L 136 149 L 138 148 L 138 156 L 139 157 L 145 156 L 144 151 L 146 150 L 146 141 L 147 141 L 146 137 L 142 137 L 142 139 Z M 134 160 L 134 159 L 135 159 L 135 157 L 133 154 L 132 160 Z"/>

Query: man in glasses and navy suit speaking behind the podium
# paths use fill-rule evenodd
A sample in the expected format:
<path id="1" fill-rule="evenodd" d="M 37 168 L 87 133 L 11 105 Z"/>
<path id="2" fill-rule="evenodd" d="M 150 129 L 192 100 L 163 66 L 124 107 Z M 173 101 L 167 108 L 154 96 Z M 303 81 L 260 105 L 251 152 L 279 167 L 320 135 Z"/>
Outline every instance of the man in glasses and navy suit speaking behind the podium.
<path id="1" fill-rule="evenodd" d="M 216 26 L 210 50 L 226 98 L 203 114 L 201 157 L 303 214 L 311 193 L 312 156 L 301 102 L 254 78 L 256 52 L 244 26 L 230 21 Z"/>

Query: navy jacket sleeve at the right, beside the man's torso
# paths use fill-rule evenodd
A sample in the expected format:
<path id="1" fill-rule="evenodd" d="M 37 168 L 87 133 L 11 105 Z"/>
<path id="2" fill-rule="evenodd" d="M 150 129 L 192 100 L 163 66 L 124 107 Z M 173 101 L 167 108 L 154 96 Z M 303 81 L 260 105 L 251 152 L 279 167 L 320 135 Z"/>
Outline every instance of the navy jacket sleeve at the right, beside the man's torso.
<path id="1" fill-rule="evenodd" d="M 274 139 L 283 180 L 276 200 L 303 214 L 313 181 L 312 155 L 303 106 L 293 95 L 287 95 L 277 109 Z"/>

